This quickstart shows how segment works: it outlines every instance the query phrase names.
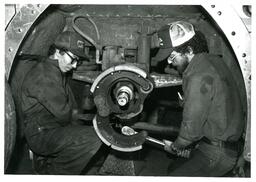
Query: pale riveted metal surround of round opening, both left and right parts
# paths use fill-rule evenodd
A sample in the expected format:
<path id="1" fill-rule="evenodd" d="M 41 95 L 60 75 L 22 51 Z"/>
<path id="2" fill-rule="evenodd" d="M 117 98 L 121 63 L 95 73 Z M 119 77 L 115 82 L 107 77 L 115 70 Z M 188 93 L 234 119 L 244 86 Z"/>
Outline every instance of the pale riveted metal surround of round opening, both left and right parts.
<path id="1" fill-rule="evenodd" d="M 5 30 L 5 75 L 10 70 L 18 49 L 37 18 L 47 9 L 47 4 L 22 5 L 10 19 Z M 231 5 L 203 4 L 202 7 L 214 19 L 228 39 L 242 71 L 247 95 L 247 132 L 245 159 L 250 161 L 250 122 L 251 122 L 251 37 L 244 22 Z M 242 7 L 242 5 L 241 5 Z M 232 26 L 227 22 L 232 20 Z"/>

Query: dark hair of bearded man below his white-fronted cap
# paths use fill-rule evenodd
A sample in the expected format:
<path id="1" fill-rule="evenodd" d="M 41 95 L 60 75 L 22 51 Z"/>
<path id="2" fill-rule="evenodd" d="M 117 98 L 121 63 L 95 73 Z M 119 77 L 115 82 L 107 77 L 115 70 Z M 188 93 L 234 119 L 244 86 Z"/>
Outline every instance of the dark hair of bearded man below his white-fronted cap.
<path id="1" fill-rule="evenodd" d="M 185 42 L 184 44 L 175 47 L 174 50 L 177 52 L 180 52 L 182 54 L 187 53 L 188 47 L 191 47 L 193 49 L 194 54 L 202 53 L 202 52 L 209 52 L 208 45 L 206 38 L 204 34 L 200 31 L 196 31 L 196 34 L 192 39 L 190 39 L 188 42 Z"/>

